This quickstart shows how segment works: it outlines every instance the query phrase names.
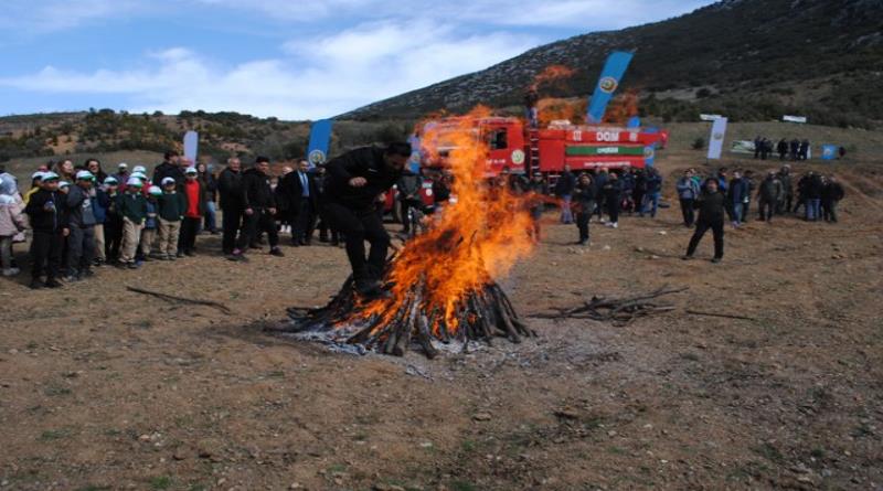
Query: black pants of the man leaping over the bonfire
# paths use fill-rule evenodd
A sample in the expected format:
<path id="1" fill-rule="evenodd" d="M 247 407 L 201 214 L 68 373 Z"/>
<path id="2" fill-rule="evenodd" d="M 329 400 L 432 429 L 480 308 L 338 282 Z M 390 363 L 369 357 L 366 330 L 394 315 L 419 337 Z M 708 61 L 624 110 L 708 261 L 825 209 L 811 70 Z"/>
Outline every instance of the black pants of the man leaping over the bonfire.
<path id="1" fill-rule="evenodd" d="M 357 280 L 380 279 L 386 264 L 390 234 L 374 209 L 352 210 L 339 203 L 326 203 L 322 217 L 331 228 L 338 230 L 347 241 L 347 257 Z M 371 252 L 365 260 L 365 241 Z"/>

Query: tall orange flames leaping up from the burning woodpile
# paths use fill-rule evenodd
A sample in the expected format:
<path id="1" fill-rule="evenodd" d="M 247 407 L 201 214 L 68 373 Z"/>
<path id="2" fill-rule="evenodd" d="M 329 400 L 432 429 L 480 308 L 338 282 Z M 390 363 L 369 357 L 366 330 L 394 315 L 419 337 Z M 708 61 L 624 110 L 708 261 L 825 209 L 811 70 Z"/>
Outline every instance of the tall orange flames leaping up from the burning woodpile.
<path id="1" fill-rule="evenodd" d="M 445 329 L 454 335 L 461 322 L 457 312 L 469 295 L 507 275 L 517 260 L 531 253 L 525 198 L 485 179 L 488 147 L 478 135 L 476 120 L 489 115 L 479 107 L 453 124 L 429 126 L 423 136 L 424 150 L 447 153 L 456 202 L 437 213 L 429 230 L 396 256 L 386 278 L 392 285 L 390 298 L 374 300 L 359 313 L 382 316 L 376 329 L 391 321 L 408 290 L 421 285 L 419 307 L 433 332 Z"/>

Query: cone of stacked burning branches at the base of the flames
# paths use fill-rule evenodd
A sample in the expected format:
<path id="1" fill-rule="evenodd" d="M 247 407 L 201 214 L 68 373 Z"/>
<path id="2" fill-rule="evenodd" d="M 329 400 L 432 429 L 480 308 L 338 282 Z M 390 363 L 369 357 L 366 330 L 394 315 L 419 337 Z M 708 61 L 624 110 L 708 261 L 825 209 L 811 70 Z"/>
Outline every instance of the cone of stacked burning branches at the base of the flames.
<path id="1" fill-rule="evenodd" d="M 390 285 L 386 286 L 389 288 Z M 292 333 L 328 333 L 333 341 L 361 345 L 384 354 L 402 356 L 417 345 L 428 357 L 438 350 L 434 341 L 483 341 L 506 338 L 513 343 L 533 337 L 519 318 L 506 292 L 493 281 L 469 292 L 459 302 L 456 329 L 448 329 L 444 313 L 426 305 L 426 284 L 415 282 L 406 290 L 404 299 L 389 308 L 394 314 L 362 314 L 366 305 L 355 293 L 349 278 L 327 306 L 318 309 L 288 309 L 291 324 L 285 329 Z M 374 300 L 374 301 L 384 301 Z"/>

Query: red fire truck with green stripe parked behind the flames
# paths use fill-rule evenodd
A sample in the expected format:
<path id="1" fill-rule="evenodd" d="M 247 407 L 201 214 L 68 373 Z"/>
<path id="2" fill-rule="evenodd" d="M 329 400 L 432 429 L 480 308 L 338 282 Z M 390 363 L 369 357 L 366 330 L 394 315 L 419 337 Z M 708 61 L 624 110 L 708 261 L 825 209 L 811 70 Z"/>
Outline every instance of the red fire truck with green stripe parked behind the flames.
<path id="1" fill-rule="evenodd" d="M 445 127 L 460 127 L 461 119 L 447 118 L 427 122 L 424 135 L 444 139 Z M 513 173 L 541 172 L 560 174 L 565 164 L 572 170 L 645 168 L 652 166 L 657 149 L 668 143 L 668 132 L 655 128 L 618 126 L 577 126 L 553 121 L 545 129 L 526 129 L 518 118 L 489 117 L 471 122 L 476 138 L 488 145 L 485 173 L 494 177 L 508 168 Z M 428 168 L 444 167 L 444 141 L 433 146 L 440 154 L 438 161 L 424 159 Z"/>

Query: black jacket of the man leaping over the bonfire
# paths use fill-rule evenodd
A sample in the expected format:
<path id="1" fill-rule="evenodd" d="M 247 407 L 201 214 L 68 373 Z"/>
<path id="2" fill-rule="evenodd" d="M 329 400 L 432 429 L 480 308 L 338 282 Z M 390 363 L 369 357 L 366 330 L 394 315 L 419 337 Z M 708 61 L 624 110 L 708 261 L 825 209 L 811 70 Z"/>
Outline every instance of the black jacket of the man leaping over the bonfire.
<path id="1" fill-rule="evenodd" d="M 363 147 L 350 150 L 331 159 L 326 166 L 323 199 L 353 210 L 372 210 L 374 200 L 385 193 L 402 177 L 402 171 L 389 169 L 383 159 L 383 149 Z M 350 179 L 364 178 L 361 188 L 350 185 Z"/>

